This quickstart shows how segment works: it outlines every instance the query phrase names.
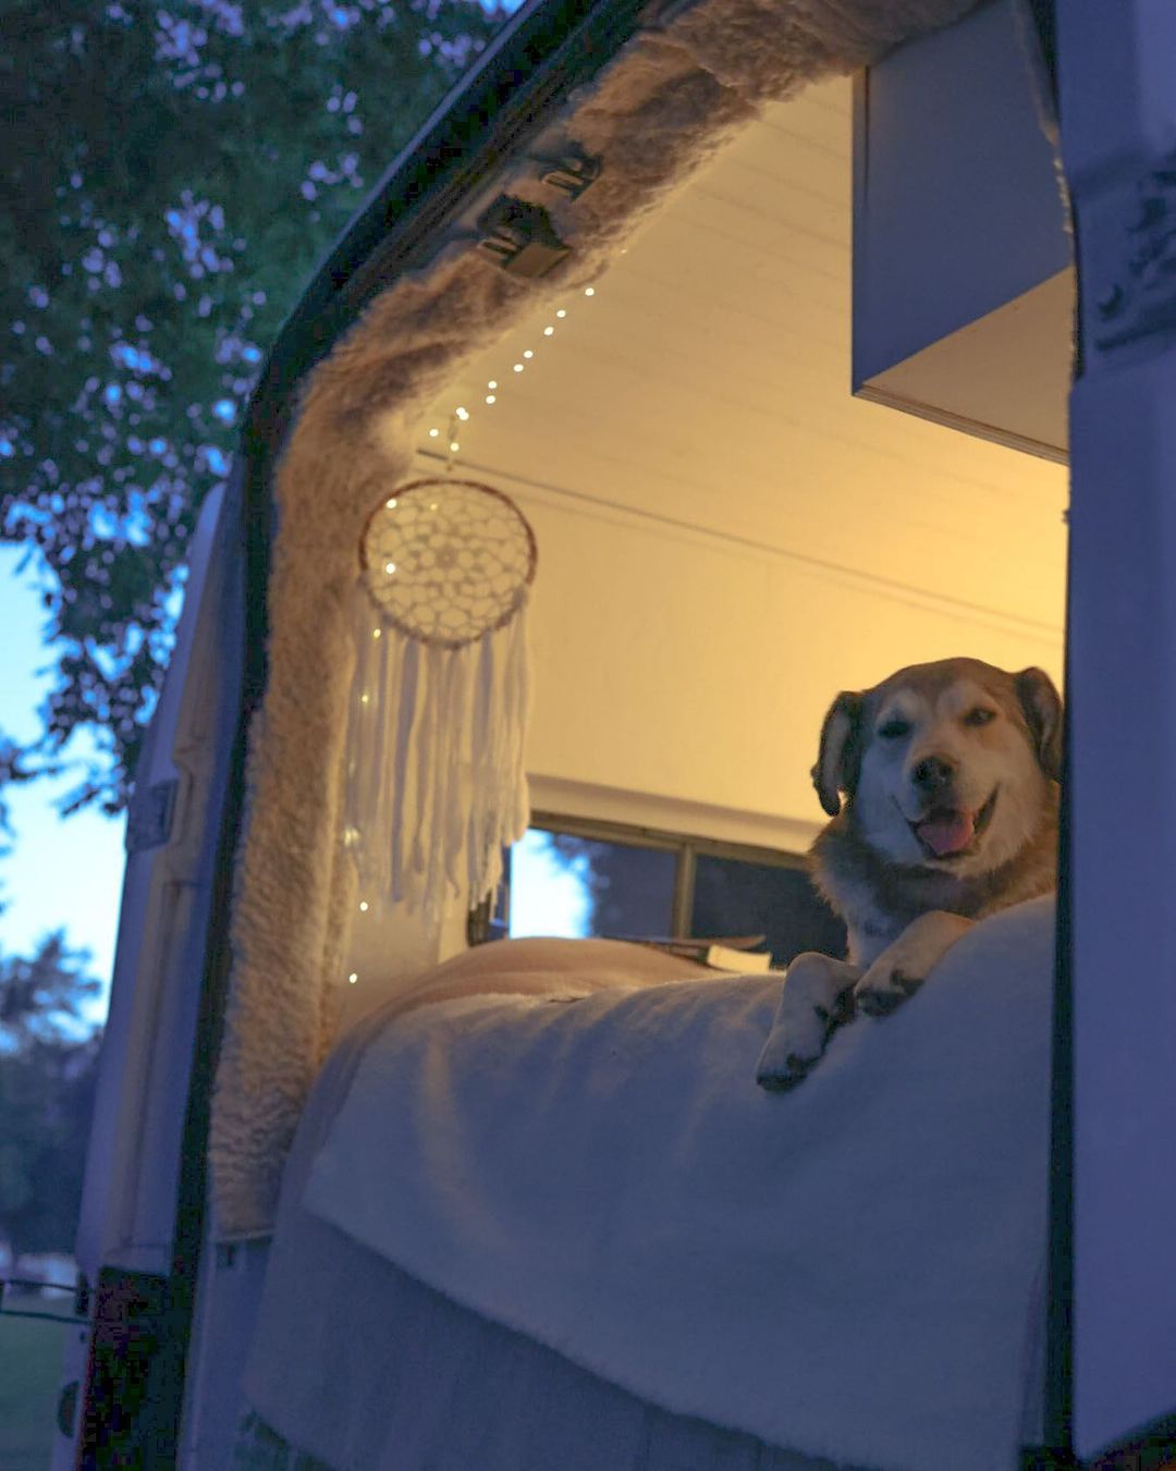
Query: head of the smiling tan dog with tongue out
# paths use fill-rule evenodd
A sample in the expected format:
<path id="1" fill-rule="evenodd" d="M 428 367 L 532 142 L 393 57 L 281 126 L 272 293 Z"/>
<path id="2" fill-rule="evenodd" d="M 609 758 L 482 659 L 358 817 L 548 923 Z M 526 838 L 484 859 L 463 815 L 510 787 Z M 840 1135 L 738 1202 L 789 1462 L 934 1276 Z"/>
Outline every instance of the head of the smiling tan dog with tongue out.
<path id="1" fill-rule="evenodd" d="M 1033 837 L 1061 775 L 1061 699 L 1041 669 L 979 659 L 913 665 L 839 694 L 812 780 L 877 853 L 960 877 L 1008 862 Z"/>

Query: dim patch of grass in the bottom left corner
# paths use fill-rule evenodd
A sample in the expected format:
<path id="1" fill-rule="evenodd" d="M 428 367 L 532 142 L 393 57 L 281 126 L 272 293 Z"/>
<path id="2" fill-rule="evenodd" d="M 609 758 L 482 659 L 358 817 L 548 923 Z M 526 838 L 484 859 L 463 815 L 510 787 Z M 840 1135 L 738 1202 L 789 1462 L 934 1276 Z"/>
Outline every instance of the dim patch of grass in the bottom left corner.
<path id="1" fill-rule="evenodd" d="M 57 1293 L 52 1294 L 56 1302 Z M 6 1306 L 25 1306 L 6 1296 Z M 31 1308 L 52 1311 L 50 1299 Z M 63 1322 L 34 1322 L 0 1314 L 0 1471 L 46 1471 L 60 1392 Z"/>

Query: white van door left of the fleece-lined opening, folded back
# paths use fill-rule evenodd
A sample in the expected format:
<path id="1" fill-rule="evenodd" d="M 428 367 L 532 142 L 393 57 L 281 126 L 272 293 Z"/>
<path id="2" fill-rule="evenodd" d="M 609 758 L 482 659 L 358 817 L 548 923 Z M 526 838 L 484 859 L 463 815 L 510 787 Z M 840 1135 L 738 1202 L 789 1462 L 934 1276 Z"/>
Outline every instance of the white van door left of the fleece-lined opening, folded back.
<path id="1" fill-rule="evenodd" d="M 119 1425 L 134 1436 L 119 1450 L 150 1437 L 147 1464 L 166 1459 L 166 1422 L 137 1421 L 134 1406 L 159 1399 L 166 1409 L 160 1375 L 175 1365 L 155 1349 L 181 1306 L 177 1253 L 199 1184 L 183 1162 L 200 1127 L 188 1105 L 202 1091 L 191 1089 L 194 1071 L 212 1065 L 196 1040 L 209 933 L 227 899 L 218 850 L 241 713 L 240 528 L 238 471 L 202 510 L 175 650 L 135 772 L 77 1246 L 94 1328 L 68 1347 L 57 1471 L 75 1455 L 93 1464 L 99 1446 L 113 1453 Z"/>

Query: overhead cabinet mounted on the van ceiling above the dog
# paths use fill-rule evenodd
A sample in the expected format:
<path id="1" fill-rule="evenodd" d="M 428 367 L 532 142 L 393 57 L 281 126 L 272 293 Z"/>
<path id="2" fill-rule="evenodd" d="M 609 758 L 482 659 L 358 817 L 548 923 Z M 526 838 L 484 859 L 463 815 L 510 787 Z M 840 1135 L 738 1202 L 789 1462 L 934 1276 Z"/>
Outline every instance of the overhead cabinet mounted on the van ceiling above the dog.
<path id="1" fill-rule="evenodd" d="M 854 391 L 1064 460 L 1074 275 L 1038 44 L 993 0 L 858 79 Z"/>

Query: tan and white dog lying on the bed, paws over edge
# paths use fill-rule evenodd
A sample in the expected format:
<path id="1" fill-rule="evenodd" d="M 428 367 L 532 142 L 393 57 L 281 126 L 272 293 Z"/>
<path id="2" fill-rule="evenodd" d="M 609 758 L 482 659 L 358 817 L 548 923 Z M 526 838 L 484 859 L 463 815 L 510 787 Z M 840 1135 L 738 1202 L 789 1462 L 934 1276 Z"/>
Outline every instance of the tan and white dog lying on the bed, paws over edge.
<path id="1" fill-rule="evenodd" d="M 789 966 L 762 1087 L 793 1087 L 837 1025 L 888 1015 L 977 919 L 1055 887 L 1061 765 L 1042 669 L 942 659 L 836 697 L 812 768 L 833 821 L 808 858 L 848 956 Z"/>

